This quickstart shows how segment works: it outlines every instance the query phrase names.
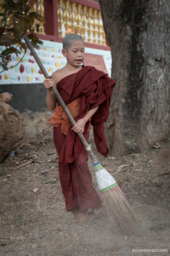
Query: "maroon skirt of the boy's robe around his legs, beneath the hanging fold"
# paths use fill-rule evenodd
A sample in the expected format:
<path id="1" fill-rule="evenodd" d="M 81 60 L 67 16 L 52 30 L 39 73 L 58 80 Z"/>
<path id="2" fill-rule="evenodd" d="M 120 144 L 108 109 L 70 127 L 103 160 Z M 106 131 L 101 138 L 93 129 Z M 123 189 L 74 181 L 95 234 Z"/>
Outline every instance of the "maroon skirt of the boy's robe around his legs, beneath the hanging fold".
<path id="1" fill-rule="evenodd" d="M 89 132 L 84 134 L 87 141 L 88 134 Z M 61 133 L 61 125 L 54 127 L 54 142 L 58 155 L 65 139 L 66 136 Z M 102 203 L 95 188 L 93 188 L 91 171 L 87 161 L 88 152 L 85 147 L 82 147 L 79 156 L 73 163 L 67 165 L 59 163 L 59 179 L 68 211 L 73 209 L 88 210 Z"/>

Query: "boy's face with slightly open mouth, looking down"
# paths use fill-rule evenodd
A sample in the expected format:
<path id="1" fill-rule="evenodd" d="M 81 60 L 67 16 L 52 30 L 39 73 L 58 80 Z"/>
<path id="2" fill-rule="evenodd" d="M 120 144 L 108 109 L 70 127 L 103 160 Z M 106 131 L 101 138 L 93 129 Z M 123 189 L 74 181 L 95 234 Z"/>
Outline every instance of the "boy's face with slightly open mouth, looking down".
<path id="1" fill-rule="evenodd" d="M 68 48 L 62 50 L 64 57 L 66 57 L 68 64 L 78 67 L 84 60 L 84 43 L 82 41 L 73 41 Z"/>

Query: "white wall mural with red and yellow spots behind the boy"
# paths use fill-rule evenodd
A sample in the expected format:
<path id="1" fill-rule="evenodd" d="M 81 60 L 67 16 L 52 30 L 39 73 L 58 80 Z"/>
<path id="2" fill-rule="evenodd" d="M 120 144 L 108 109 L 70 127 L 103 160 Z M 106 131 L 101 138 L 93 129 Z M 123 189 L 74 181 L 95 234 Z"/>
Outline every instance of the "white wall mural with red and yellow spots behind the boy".
<path id="1" fill-rule="evenodd" d="M 0 46 L 0 51 L 3 51 L 2 46 Z M 39 49 L 35 49 L 35 51 L 49 75 L 66 65 L 66 58 L 62 55 L 62 44 L 44 41 L 44 44 L 39 46 Z M 108 51 L 86 48 L 86 53 L 102 55 L 108 75 L 111 76 L 111 54 Z M 8 71 L 0 73 L 0 84 L 32 84 L 44 81 L 44 75 L 35 62 L 32 53 L 28 51 L 24 57 L 23 54 L 21 53 L 19 57 L 15 54 L 11 56 L 11 61 L 8 65 L 11 67 Z M 23 59 L 15 66 L 21 57 Z"/>

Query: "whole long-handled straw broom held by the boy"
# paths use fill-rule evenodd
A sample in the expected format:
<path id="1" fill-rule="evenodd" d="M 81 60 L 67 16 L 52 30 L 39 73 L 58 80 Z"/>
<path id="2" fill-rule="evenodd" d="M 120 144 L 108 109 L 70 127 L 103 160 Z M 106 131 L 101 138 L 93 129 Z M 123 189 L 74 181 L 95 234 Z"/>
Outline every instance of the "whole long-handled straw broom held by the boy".
<path id="1" fill-rule="evenodd" d="M 35 57 L 35 60 L 44 74 L 44 77 L 49 78 L 48 73 L 35 52 L 35 49 L 32 47 L 30 40 L 26 35 L 23 38 L 25 39 L 28 48 L 30 48 L 32 55 Z M 52 87 L 52 90 L 55 93 L 59 104 L 62 106 L 66 115 L 68 116 L 70 123 L 74 126 L 76 122 L 73 116 L 71 116 L 70 111 L 66 107 L 66 104 L 62 100 L 62 97 L 59 95 L 59 92 L 55 86 Z M 93 161 L 97 183 L 100 188 L 100 192 L 102 193 L 102 199 L 113 228 L 119 232 L 122 232 L 124 235 L 133 234 L 133 232 L 135 232 L 138 228 L 138 219 L 135 217 L 135 213 L 133 212 L 131 205 L 129 205 L 128 201 L 124 197 L 122 190 L 120 190 L 120 187 L 117 185 L 115 179 L 113 179 L 113 176 L 111 176 L 111 174 L 109 174 L 97 161 L 84 136 L 80 133 L 78 136 Z"/>

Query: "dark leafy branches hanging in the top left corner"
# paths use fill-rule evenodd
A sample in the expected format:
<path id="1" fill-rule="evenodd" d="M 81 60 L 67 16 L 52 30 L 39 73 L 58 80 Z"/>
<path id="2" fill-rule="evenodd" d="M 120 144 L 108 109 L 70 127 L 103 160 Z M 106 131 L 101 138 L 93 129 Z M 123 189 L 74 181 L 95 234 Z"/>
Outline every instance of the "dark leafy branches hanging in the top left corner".
<path id="1" fill-rule="evenodd" d="M 44 22 L 44 17 L 37 12 L 30 12 L 30 1 L 28 0 L 5 0 L 1 3 L 1 10 L 0 46 L 5 46 L 6 49 L 0 53 L 0 65 L 7 70 L 12 53 L 18 56 L 22 50 L 26 52 L 27 46 L 22 39 L 28 28 L 32 27 L 35 19 Z M 34 47 L 42 44 L 32 30 L 30 30 L 28 38 Z"/>

